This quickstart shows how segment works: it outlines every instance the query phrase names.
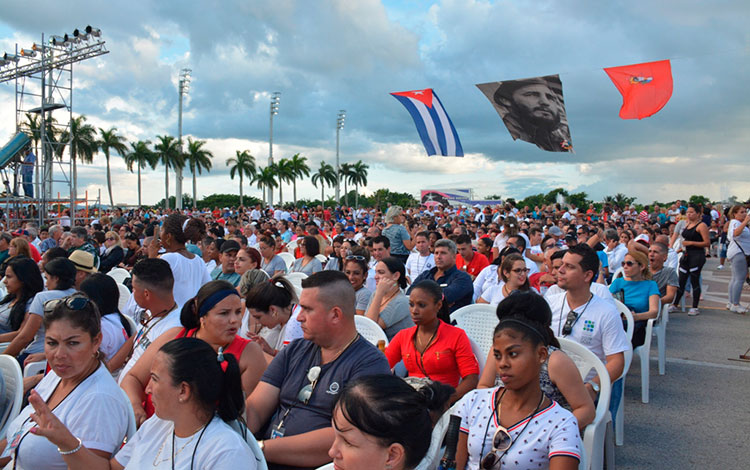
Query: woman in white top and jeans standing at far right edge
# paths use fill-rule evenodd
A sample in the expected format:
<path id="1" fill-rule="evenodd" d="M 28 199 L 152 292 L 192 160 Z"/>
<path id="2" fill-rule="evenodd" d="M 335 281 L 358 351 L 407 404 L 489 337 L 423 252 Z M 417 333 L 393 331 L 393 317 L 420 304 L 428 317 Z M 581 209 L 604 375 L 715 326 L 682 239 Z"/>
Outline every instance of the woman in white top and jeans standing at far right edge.
<path id="1" fill-rule="evenodd" d="M 733 206 L 729 210 L 729 230 L 727 238 L 727 258 L 732 262 L 732 280 L 729 282 L 729 310 L 745 313 L 747 309 L 740 305 L 742 286 L 747 278 L 747 256 L 750 255 L 750 214 L 745 206 Z"/>

